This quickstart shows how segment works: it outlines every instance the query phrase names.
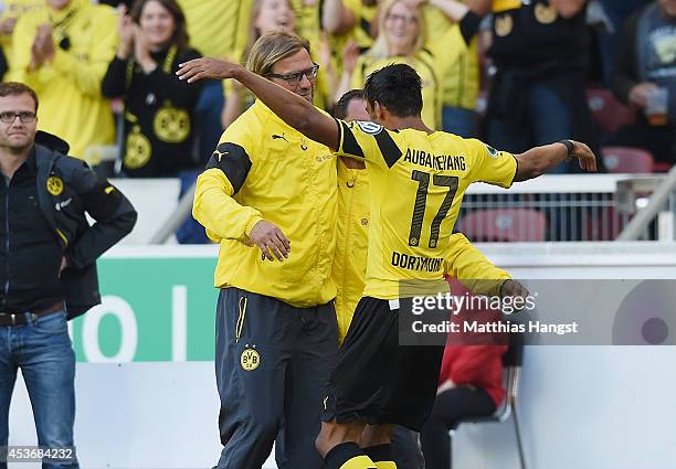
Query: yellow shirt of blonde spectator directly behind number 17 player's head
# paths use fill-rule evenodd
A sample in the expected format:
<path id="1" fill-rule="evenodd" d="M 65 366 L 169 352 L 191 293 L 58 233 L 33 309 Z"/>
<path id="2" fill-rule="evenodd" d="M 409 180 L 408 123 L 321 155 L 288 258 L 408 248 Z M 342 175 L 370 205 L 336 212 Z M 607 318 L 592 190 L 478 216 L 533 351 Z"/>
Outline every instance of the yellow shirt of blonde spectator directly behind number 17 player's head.
<path id="1" fill-rule="evenodd" d="M 422 78 L 423 109 L 422 118 L 432 129 L 442 128 L 442 79 L 458 57 L 467 50 L 467 44 L 460 32 L 460 26 L 452 25 L 444 35 L 431 42 L 412 57 L 391 56 L 377 58 L 366 53 L 359 57 L 352 72 L 350 87 L 363 88 L 370 73 L 392 63 L 411 65 Z"/>

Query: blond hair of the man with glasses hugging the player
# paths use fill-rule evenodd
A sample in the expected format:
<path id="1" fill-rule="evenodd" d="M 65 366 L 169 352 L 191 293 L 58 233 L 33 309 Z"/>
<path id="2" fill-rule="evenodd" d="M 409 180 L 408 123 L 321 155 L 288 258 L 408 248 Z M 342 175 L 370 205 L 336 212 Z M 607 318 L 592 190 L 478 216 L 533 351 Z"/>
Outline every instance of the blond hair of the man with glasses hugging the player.
<path id="1" fill-rule="evenodd" d="M 305 49 L 309 54 L 309 42 L 293 33 L 274 31 L 263 34 L 251 47 L 246 68 L 256 75 L 272 73 L 275 63 Z"/>

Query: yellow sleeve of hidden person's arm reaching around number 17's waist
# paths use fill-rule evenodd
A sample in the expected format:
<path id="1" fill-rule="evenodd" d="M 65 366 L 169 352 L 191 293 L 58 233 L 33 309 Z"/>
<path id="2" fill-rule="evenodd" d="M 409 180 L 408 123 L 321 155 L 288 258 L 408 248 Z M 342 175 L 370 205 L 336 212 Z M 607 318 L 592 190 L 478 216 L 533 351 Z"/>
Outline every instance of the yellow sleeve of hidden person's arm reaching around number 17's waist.
<path id="1" fill-rule="evenodd" d="M 445 273 L 477 295 L 499 295 L 511 276 L 496 267 L 462 233 L 451 235 L 451 254 L 444 260 Z"/>

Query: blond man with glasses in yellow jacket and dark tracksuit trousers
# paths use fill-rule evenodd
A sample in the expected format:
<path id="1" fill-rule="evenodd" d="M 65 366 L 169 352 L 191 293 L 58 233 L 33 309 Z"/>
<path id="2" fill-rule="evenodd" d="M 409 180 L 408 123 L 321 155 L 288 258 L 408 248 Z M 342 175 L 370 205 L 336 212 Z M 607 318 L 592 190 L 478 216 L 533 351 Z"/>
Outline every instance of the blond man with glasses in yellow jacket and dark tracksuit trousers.
<path id="1" fill-rule="evenodd" d="M 271 33 L 247 67 L 313 102 L 318 66 Z M 193 215 L 220 244 L 215 287 L 220 469 L 318 469 L 321 398 L 338 349 L 331 280 L 336 159 L 257 100 L 199 177 Z"/>

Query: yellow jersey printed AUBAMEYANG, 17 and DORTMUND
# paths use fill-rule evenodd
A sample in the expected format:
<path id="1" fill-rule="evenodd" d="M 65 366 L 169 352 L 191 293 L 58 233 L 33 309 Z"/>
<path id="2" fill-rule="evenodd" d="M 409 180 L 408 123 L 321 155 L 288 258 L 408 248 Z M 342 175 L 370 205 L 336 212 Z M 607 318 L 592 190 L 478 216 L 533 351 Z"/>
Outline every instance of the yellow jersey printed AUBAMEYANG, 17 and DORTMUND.
<path id="1" fill-rule="evenodd" d="M 439 285 L 451 234 L 472 182 L 511 185 L 517 161 L 476 139 L 374 122 L 338 121 L 337 156 L 365 160 L 370 214 L 363 296 L 395 299 L 403 284 Z"/>

